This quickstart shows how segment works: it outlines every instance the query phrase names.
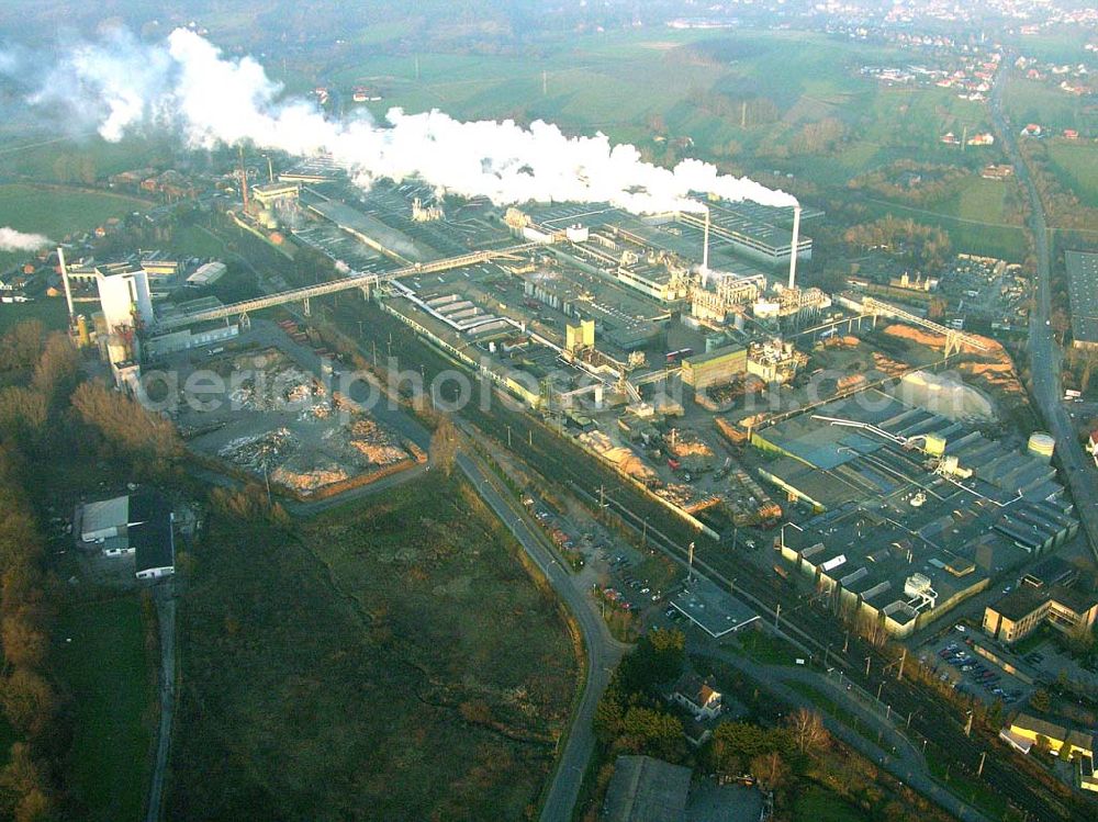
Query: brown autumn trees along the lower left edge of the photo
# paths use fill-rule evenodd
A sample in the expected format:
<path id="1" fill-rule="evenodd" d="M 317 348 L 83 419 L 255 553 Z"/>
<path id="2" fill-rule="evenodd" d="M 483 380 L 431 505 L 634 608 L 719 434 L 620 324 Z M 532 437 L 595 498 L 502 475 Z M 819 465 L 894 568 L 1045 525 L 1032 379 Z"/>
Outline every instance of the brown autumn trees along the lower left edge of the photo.
<path id="1" fill-rule="evenodd" d="M 82 381 L 81 357 L 63 333 L 36 320 L 0 337 L 0 710 L 19 737 L 0 768 L 0 817 L 70 818 L 65 777 L 72 737 L 70 697 L 53 664 L 56 603 L 32 500 L 51 498 L 49 469 L 109 461 L 127 476 L 178 475 L 175 427 L 131 398 Z"/>

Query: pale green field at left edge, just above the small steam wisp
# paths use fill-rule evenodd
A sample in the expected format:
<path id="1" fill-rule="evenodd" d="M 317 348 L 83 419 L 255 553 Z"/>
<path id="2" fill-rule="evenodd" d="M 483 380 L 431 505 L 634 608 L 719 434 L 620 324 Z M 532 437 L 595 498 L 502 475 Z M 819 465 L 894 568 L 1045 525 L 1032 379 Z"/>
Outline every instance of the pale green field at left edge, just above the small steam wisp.
<path id="1" fill-rule="evenodd" d="M 76 232 L 88 232 L 110 217 L 146 209 L 147 203 L 110 192 L 72 191 L 63 187 L 0 184 L 0 226 L 44 234 L 57 241 Z M 0 271 L 27 255 L 0 252 Z"/>

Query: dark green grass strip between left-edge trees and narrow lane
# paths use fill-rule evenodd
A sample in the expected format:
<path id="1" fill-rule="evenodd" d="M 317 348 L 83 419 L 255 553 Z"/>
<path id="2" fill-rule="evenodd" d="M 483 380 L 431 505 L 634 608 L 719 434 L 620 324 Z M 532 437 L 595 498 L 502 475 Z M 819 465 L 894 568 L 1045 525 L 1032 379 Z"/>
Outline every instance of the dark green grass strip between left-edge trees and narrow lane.
<path id="1" fill-rule="evenodd" d="M 74 697 L 74 796 L 85 819 L 138 820 L 156 717 L 156 661 L 145 649 L 141 601 L 130 595 L 66 604 L 55 634 L 59 674 Z"/>

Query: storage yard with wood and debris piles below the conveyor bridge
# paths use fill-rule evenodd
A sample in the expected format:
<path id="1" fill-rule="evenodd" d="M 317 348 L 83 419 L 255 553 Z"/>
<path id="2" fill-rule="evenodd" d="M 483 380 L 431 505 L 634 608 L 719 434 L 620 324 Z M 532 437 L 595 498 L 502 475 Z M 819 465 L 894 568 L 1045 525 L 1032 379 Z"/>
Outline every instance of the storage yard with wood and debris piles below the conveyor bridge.
<path id="1" fill-rule="evenodd" d="M 273 346 L 228 344 L 171 362 L 182 369 L 173 416 L 188 447 L 292 496 L 329 496 L 425 460 L 413 442 L 352 410 L 336 381 Z M 203 374 L 220 378 L 225 392 L 203 393 Z"/>

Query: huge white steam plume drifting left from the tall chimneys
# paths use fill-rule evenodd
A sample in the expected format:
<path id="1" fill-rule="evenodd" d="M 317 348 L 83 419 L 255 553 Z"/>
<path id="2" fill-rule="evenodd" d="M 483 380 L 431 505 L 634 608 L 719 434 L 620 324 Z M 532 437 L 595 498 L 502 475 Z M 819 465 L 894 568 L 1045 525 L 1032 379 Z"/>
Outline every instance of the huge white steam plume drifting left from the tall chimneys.
<path id="1" fill-rule="evenodd" d="M 32 101 L 91 116 L 109 140 L 158 126 L 179 130 L 194 147 L 250 140 L 291 155 L 329 153 L 362 185 L 418 178 L 497 205 L 607 201 L 637 213 L 703 210 L 687 200 L 692 192 L 796 204 L 789 194 L 720 174 L 699 160 L 659 168 L 603 134 L 567 137 L 541 121 L 524 128 L 401 109 L 392 109 L 383 126 L 362 117 L 333 122 L 306 100 L 279 99 L 280 91 L 256 60 L 226 59 L 209 41 L 178 29 L 155 46 L 128 35 L 81 46 L 49 72 Z"/>

